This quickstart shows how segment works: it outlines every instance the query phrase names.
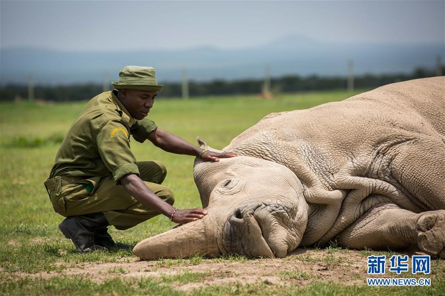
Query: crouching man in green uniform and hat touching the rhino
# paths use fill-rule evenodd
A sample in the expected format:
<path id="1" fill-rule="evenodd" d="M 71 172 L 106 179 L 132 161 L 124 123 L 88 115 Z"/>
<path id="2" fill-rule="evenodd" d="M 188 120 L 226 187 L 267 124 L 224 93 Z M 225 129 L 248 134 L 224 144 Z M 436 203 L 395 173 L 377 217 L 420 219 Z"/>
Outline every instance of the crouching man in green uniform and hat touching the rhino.
<path id="1" fill-rule="evenodd" d="M 176 223 L 206 214 L 202 209 L 173 207 L 173 192 L 161 185 L 165 166 L 159 161 L 137 162 L 130 135 L 205 161 L 235 156 L 200 149 L 147 118 L 163 87 L 153 68 L 124 67 L 112 84 L 115 89 L 91 99 L 71 125 L 45 181 L 54 211 L 66 217 L 59 228 L 79 252 L 129 248 L 113 241 L 108 225 L 125 230 L 158 214 Z"/>

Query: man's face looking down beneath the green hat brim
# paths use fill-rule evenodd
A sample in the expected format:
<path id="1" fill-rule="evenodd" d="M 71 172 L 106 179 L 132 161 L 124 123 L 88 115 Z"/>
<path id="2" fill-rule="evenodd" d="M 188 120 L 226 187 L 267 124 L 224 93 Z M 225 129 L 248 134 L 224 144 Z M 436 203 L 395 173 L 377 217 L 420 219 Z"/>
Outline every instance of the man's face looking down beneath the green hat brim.
<path id="1" fill-rule="evenodd" d="M 156 91 L 122 89 L 121 99 L 131 117 L 141 120 L 148 115 L 153 107 Z"/>

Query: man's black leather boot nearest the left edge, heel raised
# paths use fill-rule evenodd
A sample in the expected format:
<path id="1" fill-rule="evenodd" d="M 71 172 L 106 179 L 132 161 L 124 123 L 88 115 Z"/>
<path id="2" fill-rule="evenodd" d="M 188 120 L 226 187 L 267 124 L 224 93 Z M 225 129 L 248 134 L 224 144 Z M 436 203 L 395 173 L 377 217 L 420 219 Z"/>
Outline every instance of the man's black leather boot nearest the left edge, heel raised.
<path id="1" fill-rule="evenodd" d="M 79 252 L 106 250 L 95 243 L 95 230 L 105 227 L 108 221 L 103 213 L 92 213 L 65 218 L 59 228 L 67 239 L 71 239 Z"/>

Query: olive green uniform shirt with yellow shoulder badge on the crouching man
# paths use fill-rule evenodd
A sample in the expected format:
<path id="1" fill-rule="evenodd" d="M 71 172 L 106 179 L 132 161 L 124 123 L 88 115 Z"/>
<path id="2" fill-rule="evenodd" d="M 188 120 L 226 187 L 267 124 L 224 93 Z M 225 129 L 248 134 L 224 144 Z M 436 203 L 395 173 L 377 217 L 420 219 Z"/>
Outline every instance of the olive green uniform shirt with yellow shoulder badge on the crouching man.
<path id="1" fill-rule="evenodd" d="M 102 92 L 88 102 L 69 128 L 50 177 L 111 174 L 118 181 L 130 173 L 139 175 L 130 135 L 142 143 L 156 128 L 148 118 L 132 118 L 113 91 Z"/>

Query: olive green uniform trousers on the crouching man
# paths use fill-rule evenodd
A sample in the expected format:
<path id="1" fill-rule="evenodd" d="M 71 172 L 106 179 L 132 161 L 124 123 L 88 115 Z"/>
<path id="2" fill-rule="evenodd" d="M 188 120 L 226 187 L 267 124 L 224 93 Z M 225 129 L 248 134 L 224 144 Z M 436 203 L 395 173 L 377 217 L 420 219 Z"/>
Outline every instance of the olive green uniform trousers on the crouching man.
<path id="1" fill-rule="evenodd" d="M 140 178 L 163 201 L 173 205 L 173 192 L 160 185 L 167 169 L 161 162 L 137 162 Z M 132 197 L 110 176 L 91 177 L 74 184 L 60 176 L 45 182 L 54 211 L 62 216 L 103 212 L 110 225 L 128 229 L 159 213 L 148 209 Z"/>

